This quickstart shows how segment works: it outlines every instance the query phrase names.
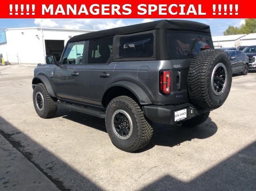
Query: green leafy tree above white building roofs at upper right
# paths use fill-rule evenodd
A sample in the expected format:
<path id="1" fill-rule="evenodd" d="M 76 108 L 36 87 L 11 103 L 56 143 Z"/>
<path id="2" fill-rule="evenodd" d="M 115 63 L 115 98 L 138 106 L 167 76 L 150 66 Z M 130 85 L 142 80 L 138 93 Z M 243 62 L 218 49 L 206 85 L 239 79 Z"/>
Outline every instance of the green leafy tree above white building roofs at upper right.
<path id="1" fill-rule="evenodd" d="M 256 33 L 256 19 L 246 19 L 241 27 L 229 26 L 224 35 Z"/>

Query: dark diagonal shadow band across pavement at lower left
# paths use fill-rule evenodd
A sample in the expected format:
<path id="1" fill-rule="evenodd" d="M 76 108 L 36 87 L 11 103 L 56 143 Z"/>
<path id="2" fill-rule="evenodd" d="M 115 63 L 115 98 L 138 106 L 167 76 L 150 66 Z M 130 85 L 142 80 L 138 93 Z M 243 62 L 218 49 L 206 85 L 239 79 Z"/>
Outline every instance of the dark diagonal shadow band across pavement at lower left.
<path id="1" fill-rule="evenodd" d="M 4 129 L 8 129 L 8 132 L 12 132 L 12 134 L 4 133 L 1 126 L 4 126 Z M 88 178 L 84 177 L 67 163 L 46 150 L 42 145 L 34 142 L 32 138 L 26 136 L 26 134 L 21 133 L 2 117 L 0 117 L 0 134 L 8 140 L 14 148 L 32 162 L 42 173 L 44 173 L 44 175 L 46 175 L 46 177 L 48 177 L 48 179 L 50 179 L 60 190 L 102 190 Z M 33 154 L 30 150 L 26 150 L 26 146 L 23 145 L 23 142 L 18 140 L 26 140 L 25 144 L 26 146 L 30 146 L 30 150 Z M 64 179 L 68 179 L 68 181 L 63 183 Z M 0 185 L 2 185 L 1 180 Z M 29 186 L 24 186 L 24 190 L 28 188 Z"/>

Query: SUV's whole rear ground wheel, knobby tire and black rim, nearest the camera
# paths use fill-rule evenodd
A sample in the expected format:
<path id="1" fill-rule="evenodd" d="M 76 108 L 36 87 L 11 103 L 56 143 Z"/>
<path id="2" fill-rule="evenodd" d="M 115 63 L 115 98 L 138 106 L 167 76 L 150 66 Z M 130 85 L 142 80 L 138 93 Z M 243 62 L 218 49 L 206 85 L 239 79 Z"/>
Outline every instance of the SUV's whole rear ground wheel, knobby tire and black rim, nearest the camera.
<path id="1" fill-rule="evenodd" d="M 106 128 L 114 146 L 126 152 L 143 148 L 153 135 L 153 128 L 141 107 L 128 96 L 110 101 L 106 109 Z"/>

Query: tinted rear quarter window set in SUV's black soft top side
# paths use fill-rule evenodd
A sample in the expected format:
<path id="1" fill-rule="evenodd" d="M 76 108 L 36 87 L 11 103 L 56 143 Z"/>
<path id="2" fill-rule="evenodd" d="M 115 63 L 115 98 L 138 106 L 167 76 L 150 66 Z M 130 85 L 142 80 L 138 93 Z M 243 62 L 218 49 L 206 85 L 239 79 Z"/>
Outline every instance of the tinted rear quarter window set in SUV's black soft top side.
<path id="1" fill-rule="evenodd" d="M 120 38 L 119 58 L 152 57 L 153 53 L 153 33 L 124 36 Z"/>

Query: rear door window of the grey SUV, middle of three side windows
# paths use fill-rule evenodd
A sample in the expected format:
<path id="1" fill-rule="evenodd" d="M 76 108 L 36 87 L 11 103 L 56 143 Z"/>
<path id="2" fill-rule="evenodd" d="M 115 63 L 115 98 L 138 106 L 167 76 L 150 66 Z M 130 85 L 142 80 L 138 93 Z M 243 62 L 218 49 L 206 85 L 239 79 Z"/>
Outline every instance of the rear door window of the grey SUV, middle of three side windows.
<path id="1" fill-rule="evenodd" d="M 92 39 L 88 47 L 88 64 L 105 64 L 111 59 L 113 37 Z"/>

